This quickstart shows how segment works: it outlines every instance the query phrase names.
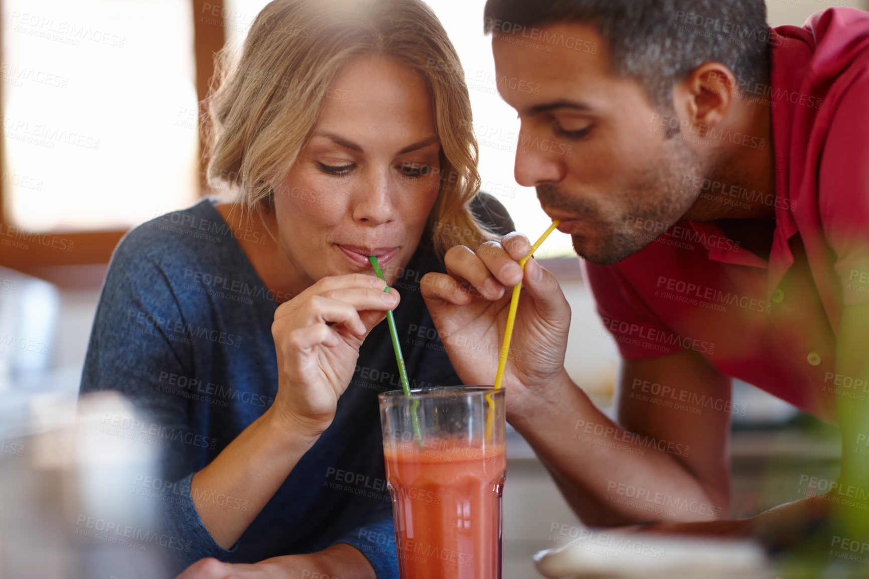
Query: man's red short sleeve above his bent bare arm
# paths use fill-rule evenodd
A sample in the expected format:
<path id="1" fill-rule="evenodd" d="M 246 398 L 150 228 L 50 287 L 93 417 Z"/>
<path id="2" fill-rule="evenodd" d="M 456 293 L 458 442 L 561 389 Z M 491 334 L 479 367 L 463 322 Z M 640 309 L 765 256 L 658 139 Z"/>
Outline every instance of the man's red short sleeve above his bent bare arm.
<path id="1" fill-rule="evenodd" d="M 621 263 L 630 264 L 634 259 L 645 259 L 642 254 L 640 250 Z M 662 336 L 673 336 L 675 332 L 640 297 L 627 276 L 621 272 L 621 263 L 603 266 L 580 260 L 583 278 L 594 296 L 600 321 L 609 336 L 612 336 L 621 356 L 626 360 L 644 360 L 683 349 L 678 341 L 660 339 Z"/>

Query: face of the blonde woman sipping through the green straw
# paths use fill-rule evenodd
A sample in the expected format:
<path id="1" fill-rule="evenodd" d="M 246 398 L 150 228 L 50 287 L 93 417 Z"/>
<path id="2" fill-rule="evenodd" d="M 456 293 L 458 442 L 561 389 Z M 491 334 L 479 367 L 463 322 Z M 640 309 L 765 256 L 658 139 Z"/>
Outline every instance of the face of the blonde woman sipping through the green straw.
<path id="1" fill-rule="evenodd" d="M 368 256 L 393 283 L 420 242 L 440 184 L 428 88 L 407 65 L 366 56 L 348 63 L 323 103 L 275 188 L 278 240 L 306 283 L 374 275 Z"/>

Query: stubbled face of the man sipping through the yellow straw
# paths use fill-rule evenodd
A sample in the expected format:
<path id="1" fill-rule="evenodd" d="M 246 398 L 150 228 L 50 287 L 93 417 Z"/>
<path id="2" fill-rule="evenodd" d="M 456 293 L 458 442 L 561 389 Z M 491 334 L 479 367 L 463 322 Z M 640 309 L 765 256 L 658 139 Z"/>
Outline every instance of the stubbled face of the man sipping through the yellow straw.
<path id="1" fill-rule="evenodd" d="M 516 181 L 537 189 L 576 253 L 591 263 L 619 262 L 692 206 L 698 192 L 681 183 L 701 174 L 701 159 L 665 135 L 661 111 L 640 83 L 610 72 L 594 27 L 494 33 L 492 47 L 501 97 L 521 119 Z M 521 90 L 528 83 L 540 90 Z"/>

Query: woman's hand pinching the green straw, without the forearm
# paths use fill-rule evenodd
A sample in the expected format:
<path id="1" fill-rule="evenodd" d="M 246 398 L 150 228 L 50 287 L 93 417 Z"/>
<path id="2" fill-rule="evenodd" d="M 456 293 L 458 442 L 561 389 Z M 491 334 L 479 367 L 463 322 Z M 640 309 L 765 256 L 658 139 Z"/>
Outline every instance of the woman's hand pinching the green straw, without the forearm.
<path id="1" fill-rule="evenodd" d="M 278 393 L 269 409 L 290 431 L 320 435 L 355 370 L 359 347 L 398 292 L 363 274 L 324 277 L 275 311 Z"/>

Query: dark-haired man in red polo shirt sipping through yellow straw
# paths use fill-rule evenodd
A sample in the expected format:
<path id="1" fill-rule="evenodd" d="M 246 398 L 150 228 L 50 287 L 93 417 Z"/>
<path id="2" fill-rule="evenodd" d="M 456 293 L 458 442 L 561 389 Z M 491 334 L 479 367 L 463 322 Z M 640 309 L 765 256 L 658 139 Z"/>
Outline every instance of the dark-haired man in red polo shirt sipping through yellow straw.
<path id="1" fill-rule="evenodd" d="M 423 278 L 442 341 L 498 351 L 523 282 L 507 420 L 589 525 L 781 542 L 836 509 L 826 544 L 865 540 L 869 14 L 771 30 L 762 0 L 488 0 L 485 18 L 497 76 L 541 87 L 498 83 L 515 177 L 585 260 L 622 357 L 618 423 L 564 371 L 570 309 L 534 260 L 523 276 L 525 236 L 452 248 Z M 450 357 L 491 383 L 495 356 Z M 839 423 L 826 495 L 720 520 L 732 377 Z"/>

